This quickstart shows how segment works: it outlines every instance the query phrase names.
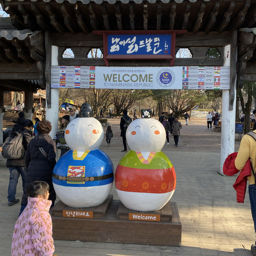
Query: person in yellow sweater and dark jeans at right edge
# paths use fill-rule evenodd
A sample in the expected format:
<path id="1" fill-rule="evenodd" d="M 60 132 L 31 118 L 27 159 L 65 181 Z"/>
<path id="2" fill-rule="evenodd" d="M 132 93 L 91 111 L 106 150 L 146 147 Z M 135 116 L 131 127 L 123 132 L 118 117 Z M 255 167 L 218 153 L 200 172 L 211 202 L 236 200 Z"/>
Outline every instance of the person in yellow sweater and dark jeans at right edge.
<path id="1" fill-rule="evenodd" d="M 242 138 L 240 148 L 235 159 L 236 169 L 243 170 L 248 159 L 250 159 L 252 167 L 250 176 L 247 176 L 247 179 L 249 180 L 249 198 L 251 204 L 252 219 L 254 221 L 254 230 L 256 233 L 256 131 L 249 132 Z M 251 252 L 254 256 L 256 256 L 256 242 L 255 244 L 252 244 Z"/>

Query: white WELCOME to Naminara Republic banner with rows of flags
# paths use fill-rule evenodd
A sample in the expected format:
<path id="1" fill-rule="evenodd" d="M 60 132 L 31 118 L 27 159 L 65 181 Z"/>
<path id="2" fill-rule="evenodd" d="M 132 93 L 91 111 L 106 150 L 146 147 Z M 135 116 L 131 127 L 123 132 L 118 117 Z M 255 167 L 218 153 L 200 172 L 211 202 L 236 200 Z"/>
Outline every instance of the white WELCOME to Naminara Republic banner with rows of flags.
<path id="1" fill-rule="evenodd" d="M 230 67 L 52 66 L 52 88 L 230 89 Z"/>

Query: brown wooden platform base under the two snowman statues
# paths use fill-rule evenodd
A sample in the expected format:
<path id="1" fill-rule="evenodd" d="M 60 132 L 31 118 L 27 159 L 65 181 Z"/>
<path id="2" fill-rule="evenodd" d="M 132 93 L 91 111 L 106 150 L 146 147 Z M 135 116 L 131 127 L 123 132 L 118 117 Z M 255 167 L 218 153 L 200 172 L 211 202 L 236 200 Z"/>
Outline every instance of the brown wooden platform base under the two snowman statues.
<path id="1" fill-rule="evenodd" d="M 50 210 L 50 214 L 52 215 L 53 238 L 58 240 L 80 240 L 88 242 L 169 246 L 181 245 L 181 222 L 175 202 L 171 202 L 166 208 L 170 208 L 171 214 L 168 214 L 166 210 L 163 210 L 163 213 L 154 212 L 154 214 L 161 215 L 161 221 L 155 222 L 128 220 L 127 214 L 123 213 L 128 213 L 130 210 L 126 210 L 119 200 L 109 199 L 110 198 L 107 199 L 108 203 L 105 201 L 101 206 L 97 206 L 98 210 L 102 209 L 102 212 L 104 212 L 105 206 L 106 208 L 109 207 L 105 215 L 98 215 L 101 215 L 100 218 L 95 218 L 96 214 L 94 214 L 94 218 L 61 217 L 60 212 L 62 210 L 60 208 L 63 207 L 62 209 L 65 208 L 65 210 L 67 210 L 67 206 L 62 202 L 57 203 Z M 78 208 L 76 208 L 76 210 L 78 210 Z M 79 208 L 79 211 L 88 211 L 88 208 Z M 145 214 L 145 212 L 136 213 Z"/>

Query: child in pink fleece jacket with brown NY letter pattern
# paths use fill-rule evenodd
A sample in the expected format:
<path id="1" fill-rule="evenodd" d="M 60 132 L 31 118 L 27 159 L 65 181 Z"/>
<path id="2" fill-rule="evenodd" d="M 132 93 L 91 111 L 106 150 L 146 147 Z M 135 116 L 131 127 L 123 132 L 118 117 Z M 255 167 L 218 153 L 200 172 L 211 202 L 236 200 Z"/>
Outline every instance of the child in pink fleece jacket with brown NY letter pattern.
<path id="1" fill-rule="evenodd" d="M 52 256 L 52 218 L 49 185 L 34 181 L 28 188 L 28 204 L 14 226 L 12 256 Z"/>

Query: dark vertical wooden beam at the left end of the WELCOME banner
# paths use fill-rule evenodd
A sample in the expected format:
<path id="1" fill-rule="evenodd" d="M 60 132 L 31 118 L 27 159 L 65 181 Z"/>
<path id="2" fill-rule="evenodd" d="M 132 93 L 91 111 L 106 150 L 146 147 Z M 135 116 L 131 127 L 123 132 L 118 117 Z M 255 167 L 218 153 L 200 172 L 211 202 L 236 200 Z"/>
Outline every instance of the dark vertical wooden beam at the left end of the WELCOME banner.
<path id="1" fill-rule="evenodd" d="M 51 102 L 51 65 L 52 65 L 52 40 L 51 35 L 48 31 L 44 33 L 45 35 L 45 53 L 46 53 L 46 61 L 45 61 L 45 88 L 46 88 L 46 102 L 47 107 L 52 107 Z"/>

